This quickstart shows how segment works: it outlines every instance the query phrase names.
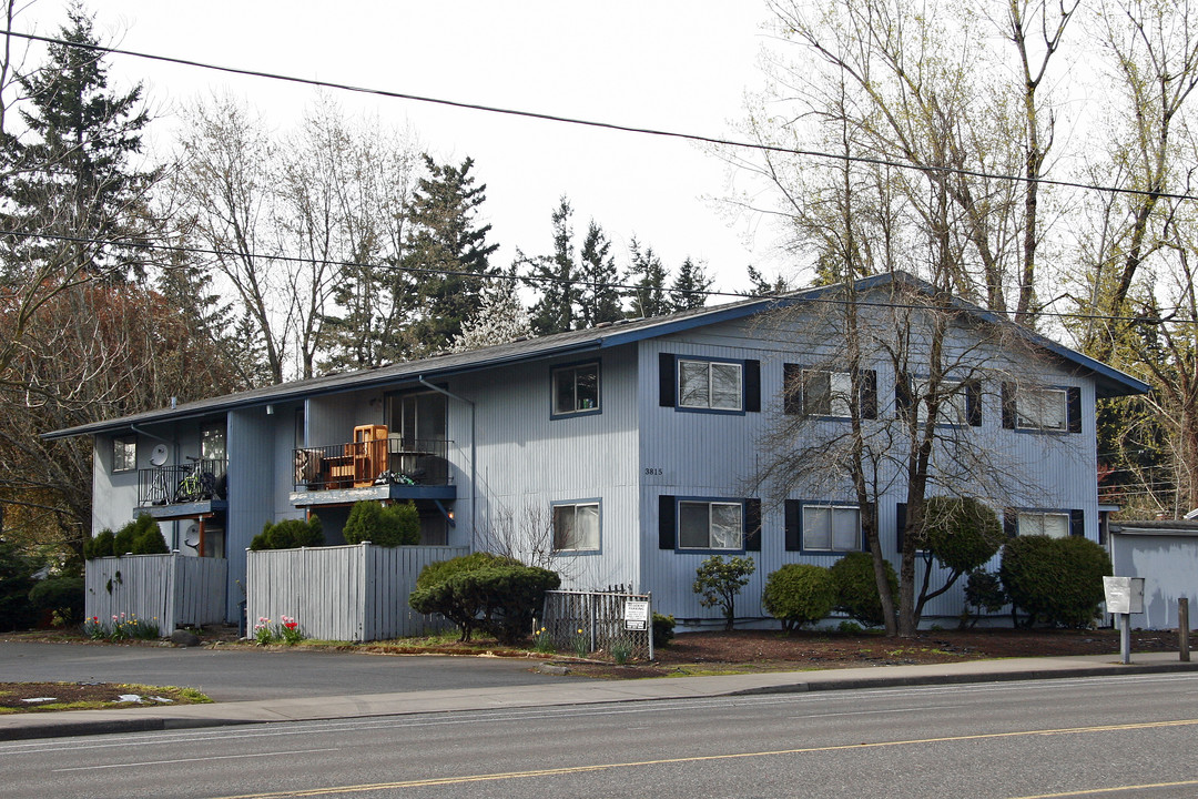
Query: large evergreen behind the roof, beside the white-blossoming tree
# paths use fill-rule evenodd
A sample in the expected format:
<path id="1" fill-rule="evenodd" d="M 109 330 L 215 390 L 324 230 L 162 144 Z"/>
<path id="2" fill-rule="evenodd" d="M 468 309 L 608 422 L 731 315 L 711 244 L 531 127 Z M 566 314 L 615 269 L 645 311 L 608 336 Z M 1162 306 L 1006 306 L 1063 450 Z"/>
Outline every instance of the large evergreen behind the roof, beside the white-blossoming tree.
<path id="1" fill-rule="evenodd" d="M 490 256 L 498 244 L 488 244 L 491 225 L 478 225 L 478 207 L 486 200 L 486 184 L 476 186 L 466 158 L 460 167 L 437 164 L 424 156 L 428 177 L 422 177 L 412 200 L 413 228 L 404 266 L 413 273 L 415 321 L 407 329 L 407 353 L 423 356 L 449 346 L 462 323 L 482 304 L 483 286 L 494 274 Z M 477 277 L 476 277 L 477 276 Z"/>

